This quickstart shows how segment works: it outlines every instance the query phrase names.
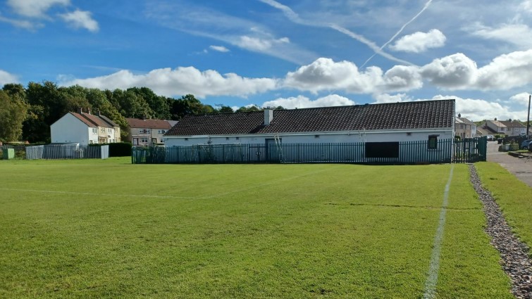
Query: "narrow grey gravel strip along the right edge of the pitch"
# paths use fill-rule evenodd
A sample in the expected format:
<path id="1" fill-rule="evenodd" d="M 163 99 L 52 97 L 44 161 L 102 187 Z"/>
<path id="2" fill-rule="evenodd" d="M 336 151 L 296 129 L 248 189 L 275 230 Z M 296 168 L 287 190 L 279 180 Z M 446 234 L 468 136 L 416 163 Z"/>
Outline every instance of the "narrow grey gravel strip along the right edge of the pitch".
<path id="1" fill-rule="evenodd" d="M 532 299 L 532 260 L 527 255 L 529 248 L 512 234 L 499 205 L 491 193 L 483 189 L 474 165 L 469 165 L 469 173 L 488 222 L 485 231 L 492 238 L 493 247 L 500 252 L 502 268 L 512 279 L 512 293 L 519 299 Z"/>

